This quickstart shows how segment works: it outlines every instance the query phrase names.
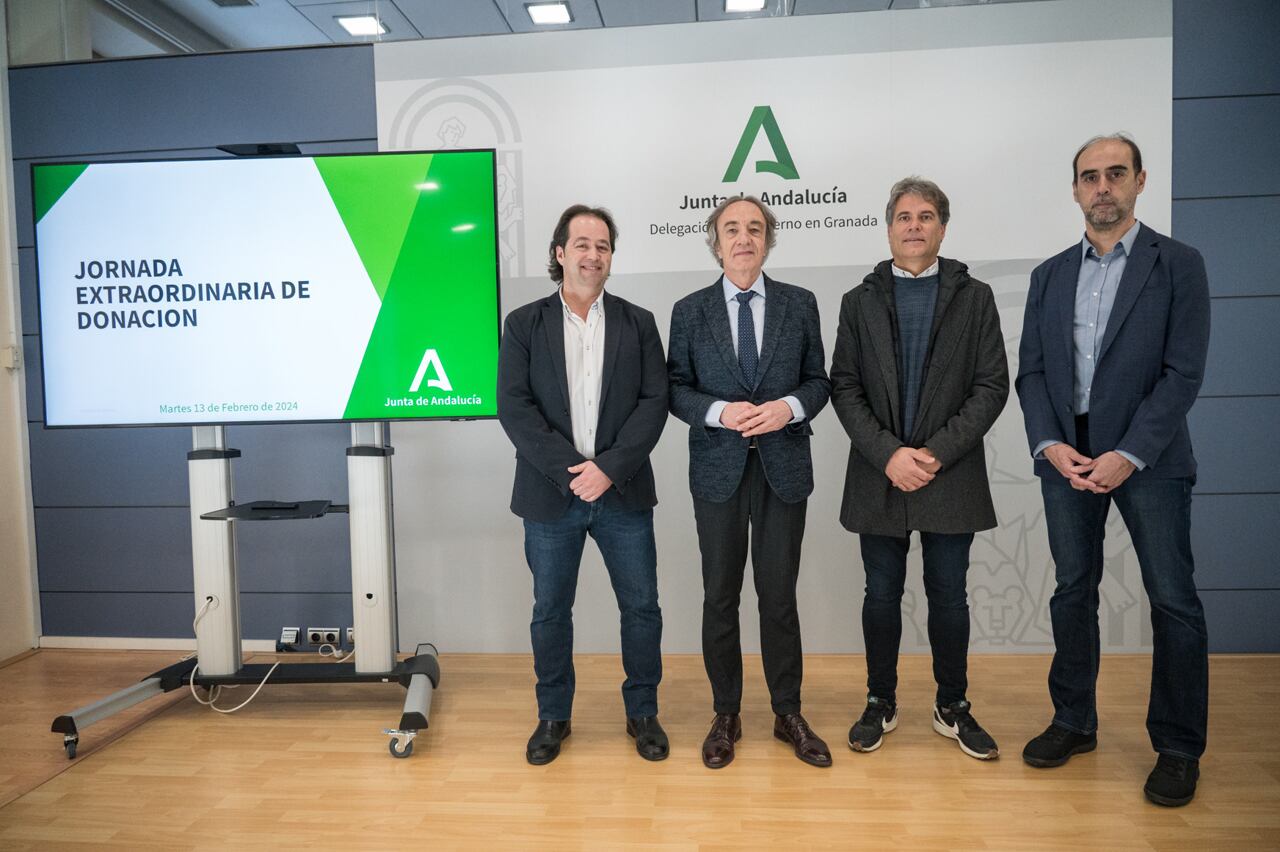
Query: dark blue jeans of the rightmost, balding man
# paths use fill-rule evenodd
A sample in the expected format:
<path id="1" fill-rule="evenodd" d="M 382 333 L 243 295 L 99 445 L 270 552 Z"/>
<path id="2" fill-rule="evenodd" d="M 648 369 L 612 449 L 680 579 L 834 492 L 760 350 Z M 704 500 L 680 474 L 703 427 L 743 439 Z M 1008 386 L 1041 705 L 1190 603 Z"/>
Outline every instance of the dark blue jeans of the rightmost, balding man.
<path id="1" fill-rule="evenodd" d="M 1208 727 L 1208 635 L 1192 577 L 1189 478 L 1129 477 L 1111 494 L 1076 491 L 1061 476 L 1042 477 L 1048 544 L 1057 587 L 1050 599 L 1053 722 L 1076 733 L 1098 727 L 1098 583 L 1102 537 L 1115 500 L 1151 600 L 1153 652 L 1147 733 L 1157 752 L 1198 759 Z"/>

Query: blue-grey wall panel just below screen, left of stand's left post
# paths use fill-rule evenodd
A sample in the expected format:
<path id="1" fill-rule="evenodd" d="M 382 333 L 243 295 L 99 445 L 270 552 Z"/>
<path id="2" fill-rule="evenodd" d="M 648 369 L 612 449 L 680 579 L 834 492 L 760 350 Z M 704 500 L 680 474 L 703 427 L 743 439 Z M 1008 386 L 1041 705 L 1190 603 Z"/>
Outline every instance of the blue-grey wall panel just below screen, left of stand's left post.
<path id="1" fill-rule="evenodd" d="M 31 426 L 35 504 L 187 505 L 191 430 Z"/>

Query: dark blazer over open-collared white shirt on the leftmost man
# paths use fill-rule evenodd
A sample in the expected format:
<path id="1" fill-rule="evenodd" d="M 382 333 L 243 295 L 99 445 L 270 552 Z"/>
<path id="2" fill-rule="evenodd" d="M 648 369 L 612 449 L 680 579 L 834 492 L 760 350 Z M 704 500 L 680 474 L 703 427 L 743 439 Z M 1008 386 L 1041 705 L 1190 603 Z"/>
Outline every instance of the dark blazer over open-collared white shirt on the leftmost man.
<path id="1" fill-rule="evenodd" d="M 568 468 L 585 461 L 573 446 L 564 306 L 559 292 L 507 315 L 498 352 L 498 422 L 516 445 L 511 510 L 550 522 L 577 499 Z M 658 503 L 649 453 L 667 423 L 667 371 L 653 313 L 604 293 L 604 368 L 595 464 L 613 480 L 602 500 L 623 509 Z"/>

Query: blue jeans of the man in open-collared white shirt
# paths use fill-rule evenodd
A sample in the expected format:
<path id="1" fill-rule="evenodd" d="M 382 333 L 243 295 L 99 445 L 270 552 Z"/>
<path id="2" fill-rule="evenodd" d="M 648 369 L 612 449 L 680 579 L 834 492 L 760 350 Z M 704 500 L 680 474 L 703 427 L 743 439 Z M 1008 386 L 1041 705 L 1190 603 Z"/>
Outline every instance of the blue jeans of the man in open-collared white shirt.
<path id="1" fill-rule="evenodd" d="M 582 546 L 595 539 L 622 613 L 622 702 L 627 716 L 658 714 L 662 610 L 653 509 L 628 512 L 575 498 L 552 523 L 525 521 L 525 558 L 534 574 L 529 633 L 538 675 L 538 718 L 562 722 L 573 710 L 573 597 Z"/>

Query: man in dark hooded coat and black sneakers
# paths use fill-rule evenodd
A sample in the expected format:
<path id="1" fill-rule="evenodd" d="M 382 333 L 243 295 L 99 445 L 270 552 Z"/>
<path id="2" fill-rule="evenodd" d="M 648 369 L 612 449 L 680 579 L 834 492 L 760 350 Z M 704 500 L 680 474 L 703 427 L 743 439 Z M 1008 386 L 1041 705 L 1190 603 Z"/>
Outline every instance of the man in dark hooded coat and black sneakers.
<path id="1" fill-rule="evenodd" d="M 893 184 L 892 260 L 845 294 L 831 404 L 849 432 L 840 521 L 859 533 L 867 594 L 867 709 L 849 747 L 876 751 L 897 727 L 897 650 L 911 531 L 920 533 L 937 697 L 933 729 L 970 757 L 1000 755 L 966 696 L 969 548 L 996 526 L 983 436 L 1009 399 L 991 288 L 938 257 L 951 205 L 932 180 Z"/>

